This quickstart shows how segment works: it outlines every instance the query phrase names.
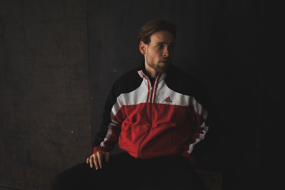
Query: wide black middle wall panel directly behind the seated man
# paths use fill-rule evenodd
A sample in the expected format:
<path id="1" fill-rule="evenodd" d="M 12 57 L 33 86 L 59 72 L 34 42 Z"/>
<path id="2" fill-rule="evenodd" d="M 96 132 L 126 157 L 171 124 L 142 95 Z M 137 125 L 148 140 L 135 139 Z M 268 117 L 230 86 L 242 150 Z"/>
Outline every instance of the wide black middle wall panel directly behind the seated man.
<path id="1" fill-rule="evenodd" d="M 262 31 L 270 22 L 262 23 L 264 15 L 272 18 L 270 6 L 275 5 L 257 0 L 89 1 L 91 142 L 111 85 L 143 61 L 139 29 L 146 21 L 166 19 L 178 27 L 173 64 L 203 82 L 225 127 L 219 147 L 197 167 L 221 171 L 224 189 L 264 187 L 271 177 L 260 178 L 266 173 L 261 169 L 266 159 L 259 160 L 264 151 L 260 141 L 266 144 L 268 135 L 263 129 L 268 128 L 263 124 L 268 113 L 260 109 L 267 90 L 261 79 L 274 73 L 262 70 L 264 65 L 271 68 L 271 63 L 262 62 L 262 41 L 269 42 L 271 35 Z M 119 148 L 111 153 L 117 152 Z"/>

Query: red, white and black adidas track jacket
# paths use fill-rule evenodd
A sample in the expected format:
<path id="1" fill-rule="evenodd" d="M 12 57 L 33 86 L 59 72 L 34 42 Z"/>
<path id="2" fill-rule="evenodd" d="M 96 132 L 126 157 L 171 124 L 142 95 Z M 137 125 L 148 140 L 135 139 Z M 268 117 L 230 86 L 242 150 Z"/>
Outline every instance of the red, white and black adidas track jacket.
<path id="1" fill-rule="evenodd" d="M 201 83 L 170 65 L 152 85 L 144 70 L 143 63 L 113 84 L 94 153 L 110 152 L 119 142 L 135 158 L 181 155 L 192 164 L 203 160 L 213 144 L 203 142 L 211 126 L 210 102 Z"/>

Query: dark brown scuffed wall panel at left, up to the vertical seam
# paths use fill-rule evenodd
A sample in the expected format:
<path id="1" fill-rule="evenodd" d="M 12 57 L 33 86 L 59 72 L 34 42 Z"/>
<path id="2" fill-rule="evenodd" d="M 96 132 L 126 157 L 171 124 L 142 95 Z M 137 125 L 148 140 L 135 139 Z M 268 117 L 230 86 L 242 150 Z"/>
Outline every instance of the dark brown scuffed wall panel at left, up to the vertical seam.
<path id="1" fill-rule="evenodd" d="M 0 186 L 50 189 L 89 156 L 86 7 L 0 1 Z"/>

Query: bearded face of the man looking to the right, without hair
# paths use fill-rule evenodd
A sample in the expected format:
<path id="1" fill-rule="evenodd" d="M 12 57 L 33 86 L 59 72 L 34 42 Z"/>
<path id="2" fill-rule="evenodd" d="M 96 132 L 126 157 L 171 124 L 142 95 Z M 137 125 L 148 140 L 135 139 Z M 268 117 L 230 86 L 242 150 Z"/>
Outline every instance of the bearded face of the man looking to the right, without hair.
<path id="1" fill-rule="evenodd" d="M 171 32 L 157 31 L 146 45 L 146 63 L 157 73 L 165 73 L 174 55 L 175 39 Z"/>

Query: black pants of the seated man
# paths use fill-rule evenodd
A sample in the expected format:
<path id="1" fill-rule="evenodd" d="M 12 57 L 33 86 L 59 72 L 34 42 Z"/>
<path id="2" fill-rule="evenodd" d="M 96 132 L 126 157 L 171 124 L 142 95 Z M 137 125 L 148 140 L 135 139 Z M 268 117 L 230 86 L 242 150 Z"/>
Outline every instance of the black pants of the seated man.
<path id="1" fill-rule="evenodd" d="M 128 153 L 111 155 L 101 169 L 82 163 L 58 174 L 52 190 L 107 189 L 207 189 L 192 164 L 181 156 L 134 158 Z"/>

